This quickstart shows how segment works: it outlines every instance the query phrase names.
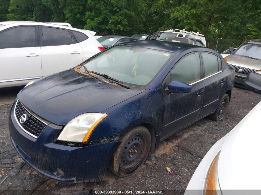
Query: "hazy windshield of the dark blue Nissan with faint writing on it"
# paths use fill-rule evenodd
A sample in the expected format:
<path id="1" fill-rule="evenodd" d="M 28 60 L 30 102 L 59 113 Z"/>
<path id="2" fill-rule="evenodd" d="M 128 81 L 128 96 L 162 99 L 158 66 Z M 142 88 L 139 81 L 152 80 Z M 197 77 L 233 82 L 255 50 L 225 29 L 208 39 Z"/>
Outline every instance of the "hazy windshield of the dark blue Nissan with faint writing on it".
<path id="1" fill-rule="evenodd" d="M 141 47 L 116 46 L 84 64 L 89 71 L 109 75 L 131 85 L 147 85 L 172 53 Z"/>

